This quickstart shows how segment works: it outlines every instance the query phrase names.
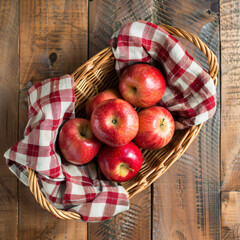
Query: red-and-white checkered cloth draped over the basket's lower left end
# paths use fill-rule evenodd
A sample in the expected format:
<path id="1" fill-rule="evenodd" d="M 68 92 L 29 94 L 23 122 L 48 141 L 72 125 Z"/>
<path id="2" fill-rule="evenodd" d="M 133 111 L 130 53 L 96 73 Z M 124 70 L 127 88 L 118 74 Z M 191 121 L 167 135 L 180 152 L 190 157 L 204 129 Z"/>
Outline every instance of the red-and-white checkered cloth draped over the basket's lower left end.
<path id="1" fill-rule="evenodd" d="M 77 212 L 84 221 L 101 221 L 127 210 L 129 200 L 122 186 L 101 180 L 94 161 L 76 166 L 58 154 L 59 127 L 74 117 L 73 84 L 67 75 L 47 79 L 29 89 L 24 139 L 4 156 L 9 169 L 27 186 L 25 167 L 35 170 L 42 192 L 55 207 Z"/>

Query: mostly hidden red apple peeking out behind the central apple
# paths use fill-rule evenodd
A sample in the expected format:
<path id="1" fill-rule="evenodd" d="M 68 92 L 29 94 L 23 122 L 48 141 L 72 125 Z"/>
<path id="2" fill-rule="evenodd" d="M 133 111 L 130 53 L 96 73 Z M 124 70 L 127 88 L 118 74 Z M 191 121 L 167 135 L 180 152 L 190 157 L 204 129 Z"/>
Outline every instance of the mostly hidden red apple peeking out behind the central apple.
<path id="1" fill-rule="evenodd" d="M 98 106 L 101 102 L 108 100 L 108 99 L 118 99 L 121 98 L 117 91 L 114 89 L 107 89 L 103 92 L 98 93 L 97 95 L 89 98 L 86 102 L 86 113 L 87 116 L 90 118 L 92 115 L 93 110 Z"/>

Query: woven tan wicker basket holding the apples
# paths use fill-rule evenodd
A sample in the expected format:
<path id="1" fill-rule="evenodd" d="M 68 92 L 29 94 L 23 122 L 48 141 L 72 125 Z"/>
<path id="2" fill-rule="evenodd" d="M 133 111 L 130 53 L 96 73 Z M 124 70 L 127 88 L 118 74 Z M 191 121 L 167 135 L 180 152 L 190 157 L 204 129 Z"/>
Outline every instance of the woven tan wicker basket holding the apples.
<path id="1" fill-rule="evenodd" d="M 161 25 L 167 32 L 187 39 L 199 48 L 208 59 L 209 74 L 213 78 L 215 87 L 217 86 L 218 63 L 213 52 L 204 44 L 198 37 L 180 28 Z M 106 88 L 116 88 L 118 85 L 118 77 L 115 72 L 114 56 L 111 47 L 108 47 L 85 64 L 80 66 L 72 76 L 75 79 L 75 96 L 76 96 L 76 116 L 85 116 L 84 103 L 86 100 L 95 94 L 94 86 L 97 86 L 99 91 Z M 156 151 L 143 150 L 143 166 L 132 180 L 123 183 L 123 187 L 128 193 L 129 199 L 141 192 L 176 162 L 182 154 L 187 150 L 198 135 L 202 124 L 190 127 L 186 130 L 176 131 L 172 141 L 164 148 Z M 68 220 L 80 220 L 81 216 L 77 213 L 58 210 L 53 207 L 45 196 L 42 194 L 35 171 L 29 171 L 29 188 L 35 196 L 37 202 L 42 208 L 53 213 L 56 217 Z"/>

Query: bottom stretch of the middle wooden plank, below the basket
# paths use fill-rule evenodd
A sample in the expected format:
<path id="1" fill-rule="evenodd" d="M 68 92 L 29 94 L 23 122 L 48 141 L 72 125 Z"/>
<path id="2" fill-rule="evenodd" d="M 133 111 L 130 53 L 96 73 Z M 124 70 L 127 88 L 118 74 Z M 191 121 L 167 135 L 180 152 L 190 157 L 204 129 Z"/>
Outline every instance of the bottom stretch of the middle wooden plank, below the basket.
<path id="1" fill-rule="evenodd" d="M 150 240 L 151 189 L 147 188 L 131 199 L 130 209 L 117 216 L 88 227 L 90 240 Z"/>

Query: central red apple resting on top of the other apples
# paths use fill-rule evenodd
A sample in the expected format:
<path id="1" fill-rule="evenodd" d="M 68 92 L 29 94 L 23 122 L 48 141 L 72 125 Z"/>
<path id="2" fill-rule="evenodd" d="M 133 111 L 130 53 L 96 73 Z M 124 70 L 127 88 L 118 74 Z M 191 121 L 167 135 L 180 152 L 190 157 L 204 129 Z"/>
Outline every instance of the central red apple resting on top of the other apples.
<path id="1" fill-rule="evenodd" d="M 91 116 L 94 135 L 112 147 L 130 142 L 138 132 L 138 114 L 122 99 L 109 99 L 100 103 Z"/>

